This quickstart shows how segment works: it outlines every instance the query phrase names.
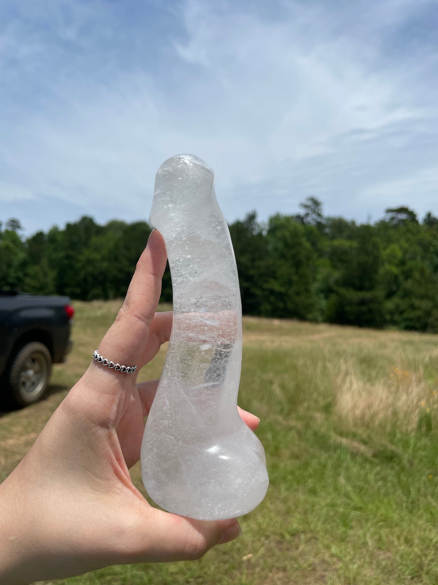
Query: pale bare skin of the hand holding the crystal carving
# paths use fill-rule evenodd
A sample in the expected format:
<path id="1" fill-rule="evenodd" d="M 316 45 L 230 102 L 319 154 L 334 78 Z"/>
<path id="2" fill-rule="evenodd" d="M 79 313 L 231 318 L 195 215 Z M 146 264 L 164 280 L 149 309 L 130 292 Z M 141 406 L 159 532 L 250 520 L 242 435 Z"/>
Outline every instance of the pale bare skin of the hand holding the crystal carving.
<path id="1" fill-rule="evenodd" d="M 164 240 L 154 230 L 100 355 L 138 371 L 168 341 L 172 313 L 155 313 L 165 264 Z M 157 385 L 92 362 L 69 391 L 0 485 L 0 585 L 199 559 L 239 536 L 236 519 L 203 522 L 157 510 L 131 482 Z M 239 412 L 256 429 L 259 419 Z"/>

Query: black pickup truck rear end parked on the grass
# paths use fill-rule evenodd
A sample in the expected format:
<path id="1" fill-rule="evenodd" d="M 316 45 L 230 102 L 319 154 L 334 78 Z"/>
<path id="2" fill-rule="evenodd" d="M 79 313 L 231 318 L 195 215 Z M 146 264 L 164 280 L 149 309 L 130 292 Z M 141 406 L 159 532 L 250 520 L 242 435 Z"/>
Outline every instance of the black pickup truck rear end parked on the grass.
<path id="1" fill-rule="evenodd" d="M 73 315 L 68 297 L 0 291 L 0 401 L 20 407 L 43 396 L 52 363 L 71 348 Z"/>

